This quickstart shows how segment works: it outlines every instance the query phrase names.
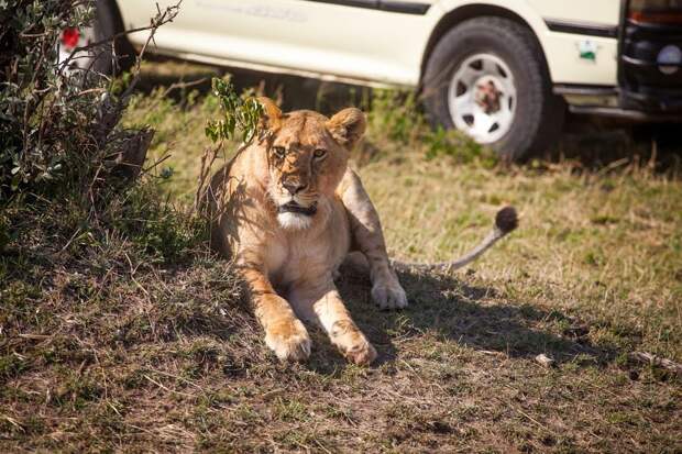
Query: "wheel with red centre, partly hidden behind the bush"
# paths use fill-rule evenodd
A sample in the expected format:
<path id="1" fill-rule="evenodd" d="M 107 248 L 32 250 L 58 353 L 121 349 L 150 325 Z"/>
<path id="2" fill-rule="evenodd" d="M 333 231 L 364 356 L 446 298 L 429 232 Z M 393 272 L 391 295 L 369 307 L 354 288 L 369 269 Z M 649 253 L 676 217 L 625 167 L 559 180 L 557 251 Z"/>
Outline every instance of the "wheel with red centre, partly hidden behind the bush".
<path id="1" fill-rule="evenodd" d="M 106 40 L 123 31 L 123 22 L 118 7 L 113 1 L 98 0 L 97 13 L 92 26 L 85 30 L 67 29 L 62 32 L 59 43 L 59 63 L 69 58 L 76 46 L 85 46 Z M 112 57 L 111 45 L 102 45 L 99 48 L 84 51 L 70 57 L 69 70 L 91 69 L 105 75 L 118 75 L 130 69 L 135 62 L 135 49 L 125 36 L 114 40 Z"/>

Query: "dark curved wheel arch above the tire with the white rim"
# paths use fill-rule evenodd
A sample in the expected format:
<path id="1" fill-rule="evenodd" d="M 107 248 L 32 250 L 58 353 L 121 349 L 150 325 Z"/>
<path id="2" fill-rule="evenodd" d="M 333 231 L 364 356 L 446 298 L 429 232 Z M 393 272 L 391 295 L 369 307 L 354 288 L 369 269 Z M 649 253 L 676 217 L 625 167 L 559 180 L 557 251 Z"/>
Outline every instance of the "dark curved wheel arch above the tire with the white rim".
<path id="1" fill-rule="evenodd" d="M 513 2 L 513 3 L 516 3 L 516 2 Z M 459 25 L 460 23 L 466 20 L 470 20 L 470 19 L 480 18 L 484 15 L 508 19 L 530 30 L 532 32 L 532 37 L 536 44 L 538 45 L 538 48 L 542 51 L 542 60 L 544 63 L 544 70 L 547 71 L 546 73 L 547 77 L 549 77 L 549 74 L 550 74 L 549 64 L 547 60 L 547 56 L 544 55 L 544 47 L 542 46 L 542 43 L 538 38 L 538 31 L 536 30 L 536 27 L 534 27 L 530 24 L 530 22 L 527 19 L 521 16 L 519 13 L 513 11 L 512 9 L 501 7 L 498 4 L 468 3 L 468 4 L 462 4 L 460 7 L 453 8 L 450 11 L 448 11 L 446 14 L 443 14 L 442 18 L 440 18 L 440 20 L 433 27 L 433 31 L 431 32 L 431 35 L 429 36 L 424 55 L 421 57 L 421 66 L 419 68 L 419 89 L 421 89 L 427 63 L 429 62 L 429 58 L 433 52 L 433 48 L 436 47 L 438 42 L 442 38 L 442 36 L 446 33 L 448 33 L 450 30 L 452 30 L 454 26 Z"/>

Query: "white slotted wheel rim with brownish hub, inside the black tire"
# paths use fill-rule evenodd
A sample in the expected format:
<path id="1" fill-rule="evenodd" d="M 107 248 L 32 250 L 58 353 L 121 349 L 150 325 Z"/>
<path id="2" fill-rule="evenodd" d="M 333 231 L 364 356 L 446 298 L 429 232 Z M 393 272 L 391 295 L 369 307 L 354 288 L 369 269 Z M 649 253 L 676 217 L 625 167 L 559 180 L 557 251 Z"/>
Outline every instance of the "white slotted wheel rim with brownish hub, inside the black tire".
<path id="1" fill-rule="evenodd" d="M 492 54 L 468 57 L 454 71 L 448 92 L 454 126 L 479 143 L 498 141 L 516 111 L 516 86 L 505 62 Z"/>

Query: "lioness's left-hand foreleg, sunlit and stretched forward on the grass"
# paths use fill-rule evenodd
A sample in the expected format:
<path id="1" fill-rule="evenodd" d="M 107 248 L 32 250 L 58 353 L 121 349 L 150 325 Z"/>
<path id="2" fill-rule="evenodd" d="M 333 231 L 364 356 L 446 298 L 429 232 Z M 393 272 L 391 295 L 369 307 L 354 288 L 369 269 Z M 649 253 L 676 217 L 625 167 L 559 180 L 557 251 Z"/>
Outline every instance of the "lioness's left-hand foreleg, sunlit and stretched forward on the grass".
<path id="1" fill-rule="evenodd" d="M 265 330 L 265 343 L 283 361 L 305 361 L 310 356 L 310 337 L 289 303 L 273 289 L 256 268 L 242 268 L 251 291 L 255 314 Z"/>

